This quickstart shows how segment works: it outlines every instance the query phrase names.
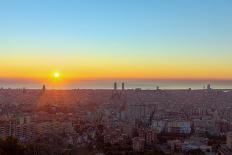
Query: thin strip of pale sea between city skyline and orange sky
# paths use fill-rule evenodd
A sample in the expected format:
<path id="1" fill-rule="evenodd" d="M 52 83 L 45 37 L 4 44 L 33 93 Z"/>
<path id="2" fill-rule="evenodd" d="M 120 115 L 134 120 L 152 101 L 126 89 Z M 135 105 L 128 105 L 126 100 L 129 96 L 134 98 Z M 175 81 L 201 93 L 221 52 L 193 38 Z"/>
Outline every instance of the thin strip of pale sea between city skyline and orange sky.
<path id="1" fill-rule="evenodd" d="M 49 83 L 27 80 L 3 80 L 0 79 L 0 87 L 3 88 L 32 88 L 41 89 L 45 84 L 48 89 L 113 89 L 117 82 L 118 89 L 121 83 L 125 83 L 125 89 L 203 89 L 208 84 L 213 89 L 232 89 L 232 80 L 80 80 L 65 84 L 51 85 Z"/>

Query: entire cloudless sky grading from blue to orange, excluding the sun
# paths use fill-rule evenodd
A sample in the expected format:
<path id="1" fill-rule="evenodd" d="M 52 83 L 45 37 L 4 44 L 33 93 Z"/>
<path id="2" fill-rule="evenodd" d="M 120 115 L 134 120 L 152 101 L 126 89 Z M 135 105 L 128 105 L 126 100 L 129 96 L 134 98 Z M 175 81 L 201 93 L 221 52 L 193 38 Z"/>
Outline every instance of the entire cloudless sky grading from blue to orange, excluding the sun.
<path id="1" fill-rule="evenodd" d="M 232 79 L 231 0 L 0 1 L 0 78 Z"/>

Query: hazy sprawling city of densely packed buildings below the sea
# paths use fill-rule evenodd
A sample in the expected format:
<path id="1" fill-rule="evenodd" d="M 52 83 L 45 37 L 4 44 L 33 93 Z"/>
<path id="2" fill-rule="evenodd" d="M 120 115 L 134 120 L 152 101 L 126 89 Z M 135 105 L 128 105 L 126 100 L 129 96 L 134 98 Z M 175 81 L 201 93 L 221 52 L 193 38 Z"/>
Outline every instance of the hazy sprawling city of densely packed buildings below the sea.
<path id="1" fill-rule="evenodd" d="M 0 137 L 28 154 L 232 154 L 232 90 L 4 89 Z M 27 146 L 27 147 L 29 147 Z M 28 149 L 28 148 L 27 148 Z M 30 152 L 32 151 L 32 152 Z"/>

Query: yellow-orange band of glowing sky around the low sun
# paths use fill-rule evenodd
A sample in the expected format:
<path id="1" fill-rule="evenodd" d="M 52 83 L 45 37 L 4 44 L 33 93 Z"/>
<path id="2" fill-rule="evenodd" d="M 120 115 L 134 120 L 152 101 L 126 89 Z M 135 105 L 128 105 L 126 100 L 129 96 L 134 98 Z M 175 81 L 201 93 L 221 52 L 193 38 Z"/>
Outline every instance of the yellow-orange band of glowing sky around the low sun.
<path id="1" fill-rule="evenodd" d="M 97 50 L 97 49 L 96 49 Z M 81 51 L 81 50 L 80 50 Z M 92 51 L 88 51 L 91 53 Z M 0 57 L 0 78 L 31 79 L 65 83 L 85 79 L 232 79 L 230 57 L 218 63 L 204 55 L 107 56 L 82 55 L 6 55 Z M 50 59 L 50 58 L 53 59 Z M 120 60 L 120 61 L 119 61 Z M 58 68 L 59 70 L 54 70 Z"/>

